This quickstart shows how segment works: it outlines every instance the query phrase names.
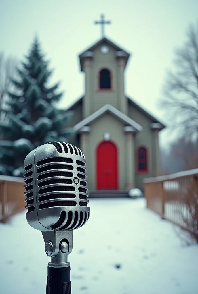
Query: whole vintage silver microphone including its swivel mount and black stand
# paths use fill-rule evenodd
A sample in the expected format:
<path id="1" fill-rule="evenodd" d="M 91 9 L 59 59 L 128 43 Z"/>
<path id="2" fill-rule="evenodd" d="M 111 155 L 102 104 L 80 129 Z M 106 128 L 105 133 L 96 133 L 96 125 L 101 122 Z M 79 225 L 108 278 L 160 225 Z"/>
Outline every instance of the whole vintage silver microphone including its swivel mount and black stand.
<path id="1" fill-rule="evenodd" d="M 24 161 L 26 218 L 42 231 L 51 257 L 46 294 L 71 294 L 70 263 L 73 230 L 90 215 L 85 156 L 79 148 L 50 142 L 31 151 Z"/>

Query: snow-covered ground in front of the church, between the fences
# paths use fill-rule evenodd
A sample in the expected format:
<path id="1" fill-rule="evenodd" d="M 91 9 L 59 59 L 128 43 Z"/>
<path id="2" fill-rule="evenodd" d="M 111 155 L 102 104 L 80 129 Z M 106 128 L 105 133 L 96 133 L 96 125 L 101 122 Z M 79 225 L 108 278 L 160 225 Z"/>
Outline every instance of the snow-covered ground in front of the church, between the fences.
<path id="1" fill-rule="evenodd" d="M 90 219 L 73 233 L 72 294 L 197 294 L 198 246 L 182 247 L 173 225 L 143 198 L 90 199 Z M 0 224 L 0 293 L 46 293 L 42 233 L 25 211 Z"/>

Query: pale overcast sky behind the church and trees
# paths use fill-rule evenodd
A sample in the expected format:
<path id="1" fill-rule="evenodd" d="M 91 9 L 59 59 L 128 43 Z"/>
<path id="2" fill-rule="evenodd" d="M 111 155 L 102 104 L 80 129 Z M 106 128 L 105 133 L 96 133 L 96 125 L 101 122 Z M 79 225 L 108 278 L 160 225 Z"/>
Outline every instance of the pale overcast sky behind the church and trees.
<path id="1" fill-rule="evenodd" d="M 60 106 L 66 108 L 85 93 L 78 55 L 101 39 L 101 28 L 93 22 L 103 13 L 111 20 L 105 36 L 131 54 L 126 95 L 169 123 L 157 101 L 174 49 L 184 44 L 197 11 L 197 0 L 0 0 L 0 51 L 23 60 L 37 33 L 55 69 L 51 82 L 62 81 Z M 161 131 L 161 145 L 169 138 L 170 132 Z"/>

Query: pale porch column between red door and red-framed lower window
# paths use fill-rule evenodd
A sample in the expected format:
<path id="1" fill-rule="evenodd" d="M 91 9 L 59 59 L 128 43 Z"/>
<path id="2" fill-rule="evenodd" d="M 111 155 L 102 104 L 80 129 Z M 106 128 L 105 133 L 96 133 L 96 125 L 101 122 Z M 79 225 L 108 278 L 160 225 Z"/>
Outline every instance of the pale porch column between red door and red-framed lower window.
<path id="1" fill-rule="evenodd" d="M 136 130 L 131 126 L 124 127 L 126 136 L 126 189 L 135 187 L 135 151 L 134 151 L 134 134 Z"/>

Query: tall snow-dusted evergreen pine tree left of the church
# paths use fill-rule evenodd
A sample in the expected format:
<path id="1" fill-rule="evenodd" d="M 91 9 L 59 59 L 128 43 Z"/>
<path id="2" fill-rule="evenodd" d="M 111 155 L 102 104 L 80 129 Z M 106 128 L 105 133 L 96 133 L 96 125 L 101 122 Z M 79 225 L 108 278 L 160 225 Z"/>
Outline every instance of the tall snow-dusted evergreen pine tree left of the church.
<path id="1" fill-rule="evenodd" d="M 26 62 L 17 69 L 19 81 L 11 79 L 17 91 L 8 92 L 9 100 L 2 109 L 1 175 L 23 176 L 23 162 L 30 151 L 48 142 L 66 142 L 73 133 L 71 128 L 65 128 L 73 113 L 54 106 L 62 93 L 57 93 L 59 83 L 47 86 L 52 71 L 39 47 L 35 38 Z"/>

